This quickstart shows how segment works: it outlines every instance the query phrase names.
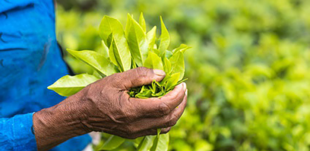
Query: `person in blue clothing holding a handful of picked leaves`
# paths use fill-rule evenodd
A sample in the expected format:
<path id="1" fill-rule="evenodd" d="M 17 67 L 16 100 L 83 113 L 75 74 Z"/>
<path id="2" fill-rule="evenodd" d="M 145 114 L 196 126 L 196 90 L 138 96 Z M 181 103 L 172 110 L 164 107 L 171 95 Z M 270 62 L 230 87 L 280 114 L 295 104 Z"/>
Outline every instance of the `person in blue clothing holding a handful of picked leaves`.
<path id="1" fill-rule="evenodd" d="M 91 131 L 124 138 L 170 130 L 187 102 L 183 83 L 162 98 L 130 88 L 161 81 L 162 70 L 135 68 L 63 98 L 46 87 L 68 74 L 55 36 L 52 0 L 0 0 L 0 150 L 83 150 Z"/>

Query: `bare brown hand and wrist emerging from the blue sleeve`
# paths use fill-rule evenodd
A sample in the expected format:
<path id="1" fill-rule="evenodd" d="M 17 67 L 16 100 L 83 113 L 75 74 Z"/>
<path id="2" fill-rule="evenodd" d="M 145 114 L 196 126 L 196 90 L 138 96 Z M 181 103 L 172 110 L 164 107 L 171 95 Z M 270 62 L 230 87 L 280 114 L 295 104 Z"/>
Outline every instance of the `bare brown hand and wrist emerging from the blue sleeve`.
<path id="1" fill-rule="evenodd" d="M 138 67 L 103 78 L 58 105 L 34 114 L 38 149 L 48 149 L 71 137 L 101 131 L 124 138 L 167 133 L 187 102 L 185 83 L 162 98 L 136 99 L 130 88 L 161 81 L 162 70 Z"/>

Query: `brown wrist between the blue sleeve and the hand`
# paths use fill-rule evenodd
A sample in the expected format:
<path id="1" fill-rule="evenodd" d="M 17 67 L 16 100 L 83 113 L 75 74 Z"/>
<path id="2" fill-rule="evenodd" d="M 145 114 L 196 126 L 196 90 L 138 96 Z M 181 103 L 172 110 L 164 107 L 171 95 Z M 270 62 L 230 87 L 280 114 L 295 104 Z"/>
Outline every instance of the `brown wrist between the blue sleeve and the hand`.
<path id="1" fill-rule="evenodd" d="M 83 124 L 83 102 L 80 96 L 71 96 L 61 103 L 36 112 L 33 115 L 33 128 L 38 150 L 50 149 L 53 146 L 75 136 L 90 132 Z"/>

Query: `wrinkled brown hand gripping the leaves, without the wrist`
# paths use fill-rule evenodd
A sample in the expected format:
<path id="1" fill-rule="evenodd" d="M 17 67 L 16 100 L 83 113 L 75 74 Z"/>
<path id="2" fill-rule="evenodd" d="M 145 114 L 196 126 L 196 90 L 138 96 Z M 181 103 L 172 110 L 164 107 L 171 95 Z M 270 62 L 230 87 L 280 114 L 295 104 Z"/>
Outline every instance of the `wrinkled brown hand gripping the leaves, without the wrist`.
<path id="1" fill-rule="evenodd" d="M 84 89 L 88 110 L 82 121 L 88 131 L 103 131 L 125 138 L 156 135 L 170 130 L 182 115 L 187 97 L 185 83 L 162 98 L 136 99 L 127 94 L 130 88 L 161 81 L 162 70 L 139 67 L 106 77 Z M 178 108 L 176 108 L 179 106 Z"/>

